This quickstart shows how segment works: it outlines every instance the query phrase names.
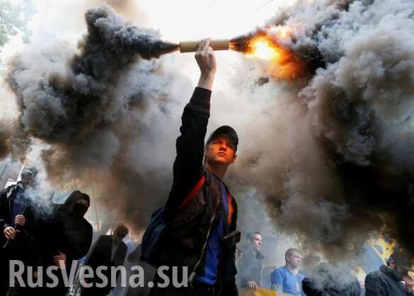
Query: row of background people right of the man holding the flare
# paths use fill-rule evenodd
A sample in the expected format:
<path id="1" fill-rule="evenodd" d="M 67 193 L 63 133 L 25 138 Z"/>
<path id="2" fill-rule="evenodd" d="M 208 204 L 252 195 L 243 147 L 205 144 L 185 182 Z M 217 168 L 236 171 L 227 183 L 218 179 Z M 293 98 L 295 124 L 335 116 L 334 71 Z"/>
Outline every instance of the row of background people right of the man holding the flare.
<path id="1" fill-rule="evenodd" d="M 352 274 L 352 266 L 336 266 L 323 262 L 313 266 L 309 274 L 301 269 L 302 254 L 294 248 L 287 249 L 285 264 L 275 268 L 269 278 L 263 278 L 260 254 L 263 240 L 260 232 L 248 233 L 238 258 L 238 286 L 256 290 L 266 287 L 277 292 L 297 296 L 402 296 L 414 295 L 414 282 L 408 276 L 411 261 L 406 251 L 391 254 L 378 271 L 369 273 L 363 284 Z"/>

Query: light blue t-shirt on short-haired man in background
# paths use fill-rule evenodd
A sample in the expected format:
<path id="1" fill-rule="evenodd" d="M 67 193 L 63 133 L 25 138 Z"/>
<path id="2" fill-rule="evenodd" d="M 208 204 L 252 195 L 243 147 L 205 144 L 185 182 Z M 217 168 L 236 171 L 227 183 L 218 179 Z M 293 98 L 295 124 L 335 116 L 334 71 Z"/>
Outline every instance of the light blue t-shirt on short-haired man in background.
<path id="1" fill-rule="evenodd" d="M 306 296 L 302 290 L 304 277 L 301 273 L 295 276 L 285 266 L 277 268 L 270 275 L 272 286 L 275 285 L 278 291 L 298 296 Z"/>

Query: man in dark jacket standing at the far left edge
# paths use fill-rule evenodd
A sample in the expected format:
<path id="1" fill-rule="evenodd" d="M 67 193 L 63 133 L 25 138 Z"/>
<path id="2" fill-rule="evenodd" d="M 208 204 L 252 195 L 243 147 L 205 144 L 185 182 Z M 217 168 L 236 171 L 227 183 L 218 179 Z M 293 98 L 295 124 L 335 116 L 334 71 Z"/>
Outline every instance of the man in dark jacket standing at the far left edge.
<path id="1" fill-rule="evenodd" d="M 0 296 L 8 290 L 9 260 L 27 265 L 35 244 L 35 208 L 28 192 L 35 184 L 37 173 L 35 167 L 25 168 L 20 182 L 0 192 Z"/>

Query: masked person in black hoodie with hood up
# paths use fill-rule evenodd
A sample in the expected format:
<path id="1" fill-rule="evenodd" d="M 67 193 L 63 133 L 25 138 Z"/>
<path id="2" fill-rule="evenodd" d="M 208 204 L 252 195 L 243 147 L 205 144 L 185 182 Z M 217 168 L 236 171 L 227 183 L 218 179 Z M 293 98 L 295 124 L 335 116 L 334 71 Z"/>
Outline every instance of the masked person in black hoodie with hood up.
<path id="1" fill-rule="evenodd" d="M 57 266 L 54 272 L 59 283 L 55 288 L 37 288 L 33 295 L 42 296 L 64 296 L 69 290 L 70 283 L 65 283 L 64 272 L 67 276 L 76 268 L 76 260 L 81 259 L 91 247 L 92 226 L 84 218 L 89 208 L 90 199 L 88 194 L 74 191 L 62 205 L 54 208 L 52 215 L 42 221 L 45 233 L 40 237 L 39 265 Z M 43 275 L 45 282 L 52 280 Z"/>

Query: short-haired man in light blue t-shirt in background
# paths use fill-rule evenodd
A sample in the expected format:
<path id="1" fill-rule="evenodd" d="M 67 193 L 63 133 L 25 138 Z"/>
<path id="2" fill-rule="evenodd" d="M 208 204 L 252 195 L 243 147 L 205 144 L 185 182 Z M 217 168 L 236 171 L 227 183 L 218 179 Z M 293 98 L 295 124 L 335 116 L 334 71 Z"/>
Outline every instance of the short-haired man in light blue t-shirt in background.
<path id="1" fill-rule="evenodd" d="M 297 249 L 287 249 L 284 254 L 286 264 L 272 272 L 272 290 L 292 295 L 305 295 L 302 290 L 304 275 L 299 273 L 301 253 Z"/>

